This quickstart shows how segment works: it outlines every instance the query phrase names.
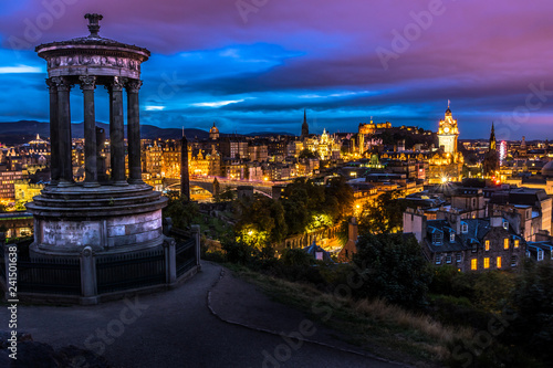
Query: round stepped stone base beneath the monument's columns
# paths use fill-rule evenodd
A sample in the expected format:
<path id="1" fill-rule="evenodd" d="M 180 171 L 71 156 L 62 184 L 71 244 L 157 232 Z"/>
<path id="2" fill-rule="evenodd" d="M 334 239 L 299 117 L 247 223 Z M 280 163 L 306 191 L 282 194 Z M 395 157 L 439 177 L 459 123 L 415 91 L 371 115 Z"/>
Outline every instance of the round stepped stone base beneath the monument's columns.
<path id="1" fill-rule="evenodd" d="M 150 186 L 46 187 L 28 203 L 38 256 L 76 256 L 85 246 L 117 254 L 160 246 L 167 198 Z"/>

